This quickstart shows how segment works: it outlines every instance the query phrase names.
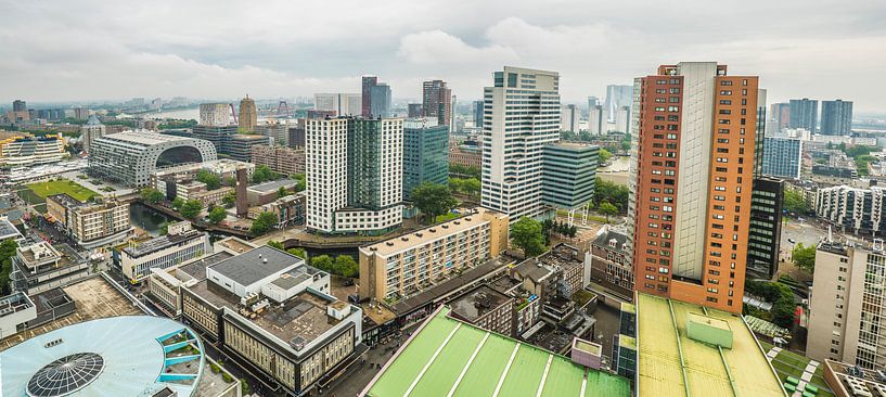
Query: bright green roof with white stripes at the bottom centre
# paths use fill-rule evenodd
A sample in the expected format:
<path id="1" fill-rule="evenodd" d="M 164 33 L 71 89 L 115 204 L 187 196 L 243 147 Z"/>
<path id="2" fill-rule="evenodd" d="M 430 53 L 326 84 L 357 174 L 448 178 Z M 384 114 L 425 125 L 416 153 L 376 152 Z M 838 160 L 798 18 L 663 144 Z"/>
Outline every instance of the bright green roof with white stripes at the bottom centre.
<path id="1" fill-rule="evenodd" d="M 447 317 L 441 308 L 363 389 L 367 396 L 628 397 L 630 382 Z"/>

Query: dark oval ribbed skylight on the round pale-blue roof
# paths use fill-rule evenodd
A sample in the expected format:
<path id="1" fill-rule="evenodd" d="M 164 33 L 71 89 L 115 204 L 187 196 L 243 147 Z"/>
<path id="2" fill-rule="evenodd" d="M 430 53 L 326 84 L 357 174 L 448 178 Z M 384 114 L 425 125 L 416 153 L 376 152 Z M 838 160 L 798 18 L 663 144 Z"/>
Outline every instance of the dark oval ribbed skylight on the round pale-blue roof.
<path id="1" fill-rule="evenodd" d="M 60 397 L 77 392 L 102 373 L 104 359 L 94 353 L 62 357 L 41 368 L 28 382 L 30 397 Z"/>

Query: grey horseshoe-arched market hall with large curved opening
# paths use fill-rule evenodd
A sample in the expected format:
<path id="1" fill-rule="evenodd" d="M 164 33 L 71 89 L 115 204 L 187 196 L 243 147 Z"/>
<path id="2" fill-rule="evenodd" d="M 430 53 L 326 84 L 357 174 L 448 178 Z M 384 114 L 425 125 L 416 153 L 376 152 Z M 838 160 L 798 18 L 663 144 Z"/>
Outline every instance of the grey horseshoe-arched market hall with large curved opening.
<path id="1" fill-rule="evenodd" d="M 147 130 L 104 136 L 90 148 L 88 174 L 127 187 L 147 185 L 160 168 L 216 159 L 208 141 Z"/>

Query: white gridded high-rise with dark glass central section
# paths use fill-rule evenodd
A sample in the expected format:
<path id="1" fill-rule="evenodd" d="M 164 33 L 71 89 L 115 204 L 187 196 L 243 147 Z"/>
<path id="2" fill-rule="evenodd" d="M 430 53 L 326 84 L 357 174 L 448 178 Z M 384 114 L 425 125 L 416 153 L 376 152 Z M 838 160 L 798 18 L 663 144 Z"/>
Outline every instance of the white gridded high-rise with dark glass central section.
<path id="1" fill-rule="evenodd" d="M 305 137 L 308 230 L 382 234 L 402 223 L 402 119 L 308 119 Z"/>

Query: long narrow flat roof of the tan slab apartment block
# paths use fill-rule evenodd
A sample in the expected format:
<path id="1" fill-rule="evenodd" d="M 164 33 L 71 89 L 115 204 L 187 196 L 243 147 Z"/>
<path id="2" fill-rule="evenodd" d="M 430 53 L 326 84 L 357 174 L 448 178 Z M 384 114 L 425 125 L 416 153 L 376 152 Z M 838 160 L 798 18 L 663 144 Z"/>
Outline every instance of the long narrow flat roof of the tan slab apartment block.
<path id="1" fill-rule="evenodd" d="M 488 219 L 485 214 L 498 214 L 485 208 L 476 208 L 476 214 L 468 214 L 461 218 L 455 218 L 450 221 L 434 225 L 421 230 L 416 230 L 409 234 L 398 235 L 372 245 L 361 247 L 360 251 L 367 254 L 374 253 L 380 256 L 389 256 L 401 251 L 412 248 L 419 245 L 432 243 L 435 240 L 444 239 L 447 235 L 455 234 L 471 228 L 485 223 Z"/>

